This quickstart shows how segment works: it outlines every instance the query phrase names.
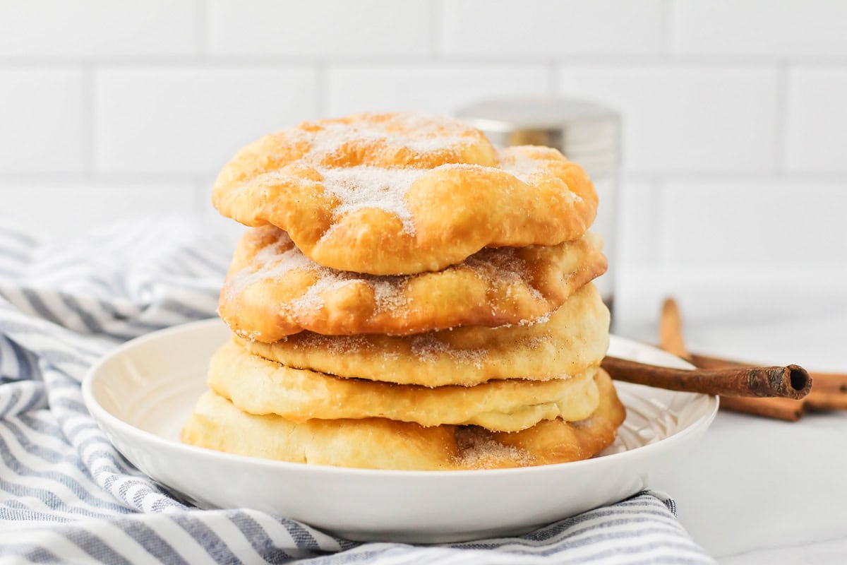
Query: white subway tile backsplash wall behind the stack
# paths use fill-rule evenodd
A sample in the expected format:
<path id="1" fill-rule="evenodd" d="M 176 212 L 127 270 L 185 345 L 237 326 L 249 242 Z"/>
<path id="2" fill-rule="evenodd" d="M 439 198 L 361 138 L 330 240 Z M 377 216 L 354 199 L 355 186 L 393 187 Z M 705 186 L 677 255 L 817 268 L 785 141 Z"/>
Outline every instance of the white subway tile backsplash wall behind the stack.
<path id="1" fill-rule="evenodd" d="M 623 113 L 619 285 L 844 282 L 845 29 L 840 0 L 3 0 L 0 213 L 211 217 L 303 119 L 567 95 Z"/>

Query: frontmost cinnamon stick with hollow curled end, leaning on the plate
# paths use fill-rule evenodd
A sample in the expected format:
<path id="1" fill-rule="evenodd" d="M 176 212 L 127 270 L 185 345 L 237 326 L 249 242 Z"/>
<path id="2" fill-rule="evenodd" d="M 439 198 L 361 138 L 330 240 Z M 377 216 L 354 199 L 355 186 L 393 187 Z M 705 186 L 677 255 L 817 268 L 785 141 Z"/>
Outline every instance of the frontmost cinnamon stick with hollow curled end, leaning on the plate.
<path id="1" fill-rule="evenodd" d="M 811 389 L 809 374 L 799 365 L 690 370 L 657 367 L 628 359 L 606 357 L 602 367 L 612 375 L 612 379 L 672 391 L 724 396 L 802 398 Z"/>

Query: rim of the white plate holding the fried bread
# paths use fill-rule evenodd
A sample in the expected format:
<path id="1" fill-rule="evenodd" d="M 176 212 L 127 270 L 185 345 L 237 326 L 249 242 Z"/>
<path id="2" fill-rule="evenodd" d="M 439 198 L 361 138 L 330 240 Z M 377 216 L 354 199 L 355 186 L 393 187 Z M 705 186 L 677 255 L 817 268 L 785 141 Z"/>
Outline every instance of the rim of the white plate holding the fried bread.
<path id="1" fill-rule="evenodd" d="M 450 470 L 417 470 L 417 469 L 373 469 L 373 468 L 354 468 L 354 467 L 340 467 L 335 465 L 324 465 L 324 464 L 316 464 L 316 463 L 295 463 L 289 461 L 278 461 L 274 459 L 265 459 L 263 457 L 249 457 L 245 455 L 238 455 L 235 453 L 227 453 L 224 451 L 215 451 L 212 449 L 207 449 L 204 447 L 191 446 L 189 444 L 182 443 L 180 441 L 169 440 L 164 438 L 161 435 L 154 434 L 144 429 L 137 428 L 136 426 L 129 424 L 125 420 L 113 415 L 110 413 L 105 407 L 97 401 L 97 398 L 94 393 L 94 382 L 98 378 L 98 374 L 102 373 L 102 367 L 106 363 L 112 362 L 113 359 L 117 357 L 121 357 L 130 349 L 135 349 L 138 346 L 142 346 L 149 341 L 158 341 L 164 338 L 167 338 L 171 334 L 180 334 L 180 333 L 191 333 L 191 331 L 201 331 L 207 330 L 207 328 L 211 328 L 213 326 L 223 325 L 223 322 L 219 318 L 208 318 L 208 319 L 200 319 L 192 322 L 188 322 L 186 324 L 177 324 L 174 326 L 170 326 L 168 328 L 163 328 L 162 330 L 155 330 L 149 332 L 144 335 L 140 335 L 136 338 L 133 338 L 129 341 L 125 341 L 123 344 L 115 347 L 111 351 L 107 352 L 105 355 L 100 357 L 96 363 L 94 363 L 91 368 L 86 371 L 86 375 L 82 379 L 82 396 L 83 402 L 86 405 L 88 412 L 91 414 L 91 417 L 94 418 L 95 422 L 97 422 L 97 426 L 105 433 L 106 429 L 104 429 L 104 422 L 108 424 L 110 428 L 121 429 L 123 433 L 130 435 L 134 439 L 140 439 L 148 444 L 152 444 L 157 446 L 158 448 L 164 449 L 181 449 L 186 450 L 188 453 L 195 453 L 199 457 L 208 457 L 209 459 L 223 459 L 224 461 L 229 461 L 230 463 L 241 463 L 245 465 L 259 466 L 263 468 L 268 468 L 269 470 L 274 469 L 285 469 L 286 471 L 293 472 L 309 472 L 309 473 L 324 473 L 324 474 L 345 474 L 347 476 L 350 475 L 362 475 L 363 477 L 370 478 L 414 478 L 414 477 L 449 477 L 451 479 L 457 479 L 462 477 L 468 477 L 468 479 L 479 479 L 480 476 L 484 477 L 495 477 L 495 476 L 507 476 L 510 474 L 519 474 L 521 476 L 528 474 L 545 474 L 545 473 L 555 473 L 562 468 L 577 470 L 579 468 L 583 468 L 585 466 L 597 466 L 598 464 L 604 464 L 600 462 L 609 462 L 608 464 L 616 463 L 622 461 L 625 463 L 627 458 L 639 457 L 642 455 L 649 454 L 652 451 L 656 451 L 658 449 L 667 448 L 669 446 L 673 446 L 673 444 L 678 443 L 678 441 L 684 440 L 687 435 L 694 434 L 698 430 L 704 427 L 708 427 L 711 425 L 711 422 L 714 420 L 717 409 L 719 407 L 719 401 L 717 396 L 713 395 L 705 395 L 699 393 L 689 393 L 689 392 L 678 392 L 678 391 L 669 391 L 674 392 L 676 394 L 692 394 L 696 396 L 709 398 L 709 402 L 711 407 L 709 407 L 708 412 L 704 413 L 700 418 L 697 418 L 695 422 L 689 424 L 684 429 L 680 429 L 677 433 L 667 436 L 662 440 L 658 440 L 654 443 L 647 444 L 645 446 L 639 446 L 634 449 L 628 449 L 625 451 L 618 451 L 617 453 L 610 453 L 608 455 L 604 455 L 602 457 L 590 457 L 589 459 L 583 459 L 580 461 L 571 461 L 567 463 L 551 463 L 547 465 L 536 465 L 532 467 L 517 467 L 517 468 L 495 468 L 495 469 L 450 469 Z M 670 355 L 670 353 L 663 352 L 662 350 L 656 348 L 655 346 L 650 346 L 649 344 L 642 343 L 640 341 L 630 340 L 625 337 L 621 337 L 618 335 L 610 335 L 614 340 L 621 341 L 627 344 L 633 344 L 637 347 L 646 347 L 654 352 L 659 352 L 665 355 Z M 677 357 L 678 358 L 678 357 Z M 694 368 L 689 363 L 685 362 L 683 359 L 679 359 L 680 363 L 689 365 L 689 368 Z M 616 381 L 617 385 L 624 385 L 626 387 L 640 387 L 643 385 L 633 385 L 630 383 L 623 383 L 621 381 Z M 662 389 L 663 390 L 663 389 Z M 108 436 L 108 434 L 107 434 Z M 119 452 L 122 452 L 118 449 L 117 446 L 114 445 L 114 442 L 109 439 L 109 443 Z"/>

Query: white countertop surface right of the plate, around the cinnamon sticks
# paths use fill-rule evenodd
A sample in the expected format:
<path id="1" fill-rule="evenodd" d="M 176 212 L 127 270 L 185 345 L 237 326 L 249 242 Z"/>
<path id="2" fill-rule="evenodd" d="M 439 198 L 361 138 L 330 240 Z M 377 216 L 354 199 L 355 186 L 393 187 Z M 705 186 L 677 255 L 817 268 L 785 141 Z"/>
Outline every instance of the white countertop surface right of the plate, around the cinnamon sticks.
<path id="1" fill-rule="evenodd" d="M 615 333 L 656 341 L 664 292 L 618 291 Z M 808 292 L 673 291 L 694 352 L 847 372 L 847 296 Z M 667 290 L 667 289 L 666 289 Z M 788 423 L 721 412 L 697 450 L 656 479 L 692 537 L 722 563 L 847 562 L 847 411 Z"/>

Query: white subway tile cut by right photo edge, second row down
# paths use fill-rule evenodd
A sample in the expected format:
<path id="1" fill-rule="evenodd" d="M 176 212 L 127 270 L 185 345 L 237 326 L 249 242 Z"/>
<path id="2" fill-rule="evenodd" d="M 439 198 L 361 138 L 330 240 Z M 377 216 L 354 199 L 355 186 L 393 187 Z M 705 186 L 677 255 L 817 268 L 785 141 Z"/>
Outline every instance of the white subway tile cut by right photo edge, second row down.
<path id="1" fill-rule="evenodd" d="M 847 67 L 792 69 L 786 164 L 792 170 L 847 171 Z"/>

